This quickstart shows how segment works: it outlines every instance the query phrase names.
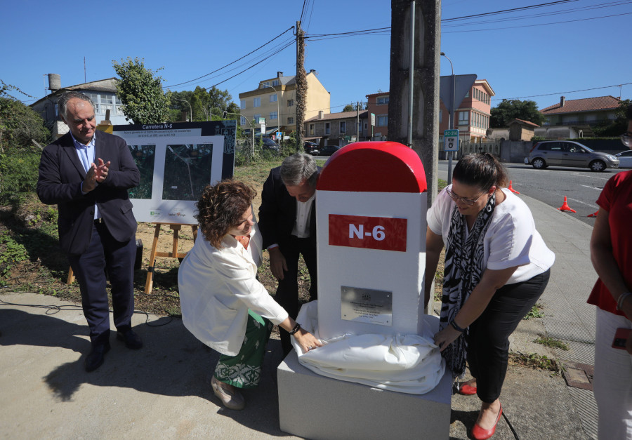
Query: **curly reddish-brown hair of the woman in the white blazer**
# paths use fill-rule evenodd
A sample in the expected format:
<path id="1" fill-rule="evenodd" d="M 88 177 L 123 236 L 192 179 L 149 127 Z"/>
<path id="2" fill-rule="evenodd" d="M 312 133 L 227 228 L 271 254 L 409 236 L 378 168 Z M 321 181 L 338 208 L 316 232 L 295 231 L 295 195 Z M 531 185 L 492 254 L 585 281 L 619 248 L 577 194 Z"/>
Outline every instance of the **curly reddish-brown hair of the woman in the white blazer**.
<path id="1" fill-rule="evenodd" d="M 213 247 L 221 248 L 222 239 L 231 227 L 242 222 L 242 215 L 256 194 L 249 185 L 231 179 L 206 187 L 196 205 L 199 213 L 194 215 L 204 239 Z"/>

